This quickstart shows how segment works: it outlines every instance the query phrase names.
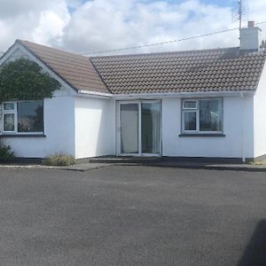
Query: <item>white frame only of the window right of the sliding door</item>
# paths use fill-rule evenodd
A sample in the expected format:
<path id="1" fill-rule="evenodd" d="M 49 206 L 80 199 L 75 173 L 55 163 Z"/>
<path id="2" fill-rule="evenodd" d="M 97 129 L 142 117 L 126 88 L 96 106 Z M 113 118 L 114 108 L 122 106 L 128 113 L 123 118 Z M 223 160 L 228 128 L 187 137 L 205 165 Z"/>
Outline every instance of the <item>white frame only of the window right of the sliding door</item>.
<path id="1" fill-rule="evenodd" d="M 222 101 L 222 130 L 221 131 L 200 131 L 200 100 L 221 100 Z M 185 101 L 197 101 L 197 108 L 187 108 L 184 107 Z M 196 112 L 196 130 L 185 130 L 184 129 L 184 113 L 187 112 Z M 197 99 L 182 99 L 182 133 L 183 134 L 200 134 L 200 135 L 208 135 L 208 134 L 223 134 L 223 98 L 197 98 Z"/>

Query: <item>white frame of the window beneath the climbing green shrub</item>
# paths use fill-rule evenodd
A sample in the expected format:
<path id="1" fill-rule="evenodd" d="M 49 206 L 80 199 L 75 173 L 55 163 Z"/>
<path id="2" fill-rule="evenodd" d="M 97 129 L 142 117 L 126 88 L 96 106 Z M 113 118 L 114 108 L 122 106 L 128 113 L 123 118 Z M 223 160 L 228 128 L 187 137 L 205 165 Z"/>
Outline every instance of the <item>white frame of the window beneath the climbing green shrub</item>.
<path id="1" fill-rule="evenodd" d="M 43 112 L 43 131 L 42 132 L 19 132 L 18 131 L 18 103 L 20 102 L 35 102 L 32 100 L 25 100 L 25 101 L 7 101 L 2 103 L 2 134 L 14 134 L 14 135 L 43 135 L 44 134 L 44 112 Z M 12 110 L 4 110 L 4 104 L 14 104 L 14 109 Z M 44 102 L 43 102 L 43 109 L 44 109 Z M 14 114 L 14 131 L 5 131 L 4 130 L 4 114 L 6 113 L 13 113 Z"/>

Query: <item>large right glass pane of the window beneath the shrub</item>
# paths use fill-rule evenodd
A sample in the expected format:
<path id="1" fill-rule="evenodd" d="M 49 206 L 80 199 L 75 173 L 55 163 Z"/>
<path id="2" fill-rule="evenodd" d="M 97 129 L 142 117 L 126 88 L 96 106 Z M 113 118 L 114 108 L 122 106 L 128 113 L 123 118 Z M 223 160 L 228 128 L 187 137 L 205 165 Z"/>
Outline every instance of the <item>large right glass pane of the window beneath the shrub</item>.
<path id="1" fill-rule="evenodd" d="M 43 132 L 43 101 L 18 103 L 18 131 Z"/>

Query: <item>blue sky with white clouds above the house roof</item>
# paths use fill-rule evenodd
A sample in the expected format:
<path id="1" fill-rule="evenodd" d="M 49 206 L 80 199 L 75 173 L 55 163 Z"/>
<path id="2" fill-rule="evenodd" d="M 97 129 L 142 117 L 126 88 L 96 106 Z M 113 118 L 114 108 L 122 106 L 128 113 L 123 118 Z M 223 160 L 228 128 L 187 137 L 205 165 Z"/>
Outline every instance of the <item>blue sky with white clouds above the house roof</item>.
<path id="1" fill-rule="evenodd" d="M 214 1 L 215 2 L 215 1 Z M 202 35 L 236 27 L 231 8 L 200 0 L 0 0 L 0 51 L 15 39 L 68 51 L 102 51 Z M 170 4 L 172 3 L 172 4 Z M 250 4 L 251 20 L 266 20 L 265 0 Z M 266 32 L 266 24 L 261 25 Z M 239 44 L 238 31 L 142 50 L 173 51 Z"/>

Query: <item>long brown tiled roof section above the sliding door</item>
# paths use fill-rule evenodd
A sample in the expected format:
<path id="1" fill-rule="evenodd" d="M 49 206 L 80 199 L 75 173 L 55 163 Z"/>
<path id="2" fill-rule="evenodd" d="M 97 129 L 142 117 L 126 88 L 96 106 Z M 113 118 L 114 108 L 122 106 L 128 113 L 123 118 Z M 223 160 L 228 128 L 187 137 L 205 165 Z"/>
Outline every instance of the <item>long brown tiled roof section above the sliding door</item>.
<path id="1" fill-rule="evenodd" d="M 114 94 L 256 90 L 265 51 L 227 48 L 90 60 Z"/>

